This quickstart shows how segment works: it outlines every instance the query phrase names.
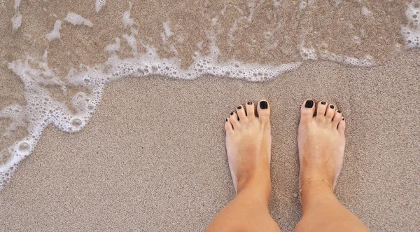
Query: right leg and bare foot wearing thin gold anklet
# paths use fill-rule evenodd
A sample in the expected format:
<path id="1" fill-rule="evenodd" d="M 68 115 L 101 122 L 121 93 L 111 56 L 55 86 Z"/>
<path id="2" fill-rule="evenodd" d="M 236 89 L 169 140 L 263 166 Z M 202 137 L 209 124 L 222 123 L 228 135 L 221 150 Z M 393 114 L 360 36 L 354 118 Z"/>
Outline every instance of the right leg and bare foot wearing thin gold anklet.
<path id="1" fill-rule="evenodd" d="M 314 116 L 314 102 L 307 100 L 302 104 L 297 132 L 299 183 L 303 189 L 302 219 L 295 231 L 369 231 L 358 217 L 339 203 L 332 191 L 344 158 L 344 118 L 326 102 L 319 102 L 316 108 Z M 314 178 L 326 182 L 320 179 L 308 182 Z"/>

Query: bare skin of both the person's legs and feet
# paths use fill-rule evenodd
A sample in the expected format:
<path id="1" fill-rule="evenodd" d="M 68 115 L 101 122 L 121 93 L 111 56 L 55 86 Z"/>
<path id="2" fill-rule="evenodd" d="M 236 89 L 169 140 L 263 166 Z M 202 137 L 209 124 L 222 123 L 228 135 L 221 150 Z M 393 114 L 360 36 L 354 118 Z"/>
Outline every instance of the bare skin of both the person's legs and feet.
<path id="1" fill-rule="evenodd" d="M 225 121 L 226 149 L 237 196 L 219 212 L 206 231 L 280 231 L 268 210 L 271 193 L 270 107 L 237 107 Z M 325 104 L 323 104 L 325 103 Z M 302 219 L 295 231 L 369 231 L 346 209 L 330 186 L 335 186 L 344 158 L 346 122 L 327 102 L 302 104 L 297 130 L 302 189 Z M 316 111 L 316 116 L 314 116 Z M 238 120 L 239 118 L 239 120 Z M 317 178 L 308 183 L 309 179 Z M 325 179 L 319 180 L 319 179 Z M 304 185 L 306 184 L 306 185 Z"/>

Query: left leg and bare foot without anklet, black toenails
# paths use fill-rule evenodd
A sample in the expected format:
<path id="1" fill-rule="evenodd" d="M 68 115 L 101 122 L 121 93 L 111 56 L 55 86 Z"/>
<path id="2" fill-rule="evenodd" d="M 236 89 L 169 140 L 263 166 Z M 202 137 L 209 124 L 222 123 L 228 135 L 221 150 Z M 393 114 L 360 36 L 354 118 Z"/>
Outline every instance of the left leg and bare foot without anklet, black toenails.
<path id="1" fill-rule="evenodd" d="M 271 182 L 269 106 L 262 101 L 237 107 L 226 119 L 226 149 L 237 196 L 211 221 L 206 231 L 280 231 L 268 211 Z M 239 119 L 238 119 L 239 117 Z"/>

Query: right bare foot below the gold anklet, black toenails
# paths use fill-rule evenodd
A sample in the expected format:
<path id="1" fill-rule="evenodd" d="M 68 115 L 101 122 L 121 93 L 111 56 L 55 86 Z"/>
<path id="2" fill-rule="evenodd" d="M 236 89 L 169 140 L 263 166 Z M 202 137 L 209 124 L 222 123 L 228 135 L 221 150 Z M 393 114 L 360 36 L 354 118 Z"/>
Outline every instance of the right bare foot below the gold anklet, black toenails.
<path id="1" fill-rule="evenodd" d="M 316 116 L 314 116 L 316 109 Z M 327 180 L 333 187 L 342 169 L 344 158 L 344 128 L 346 123 L 340 111 L 327 102 L 307 100 L 300 109 L 297 144 L 300 161 L 300 189 L 309 179 Z M 310 185 L 325 184 L 314 181 Z M 306 188 L 306 187 L 305 187 Z M 304 190 L 303 190 L 304 191 Z"/>

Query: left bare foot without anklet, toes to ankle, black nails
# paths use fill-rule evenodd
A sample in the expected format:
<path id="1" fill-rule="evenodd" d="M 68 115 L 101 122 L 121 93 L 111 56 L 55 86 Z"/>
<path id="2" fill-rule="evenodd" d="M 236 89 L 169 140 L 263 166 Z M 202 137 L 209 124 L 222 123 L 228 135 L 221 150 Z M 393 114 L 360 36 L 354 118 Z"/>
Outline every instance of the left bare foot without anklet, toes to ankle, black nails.
<path id="1" fill-rule="evenodd" d="M 237 112 L 232 112 L 225 122 L 230 173 L 237 194 L 249 187 L 268 193 L 269 197 L 272 145 L 269 105 L 260 101 L 258 116 L 253 102 L 248 102 L 245 108 L 237 107 Z"/>

